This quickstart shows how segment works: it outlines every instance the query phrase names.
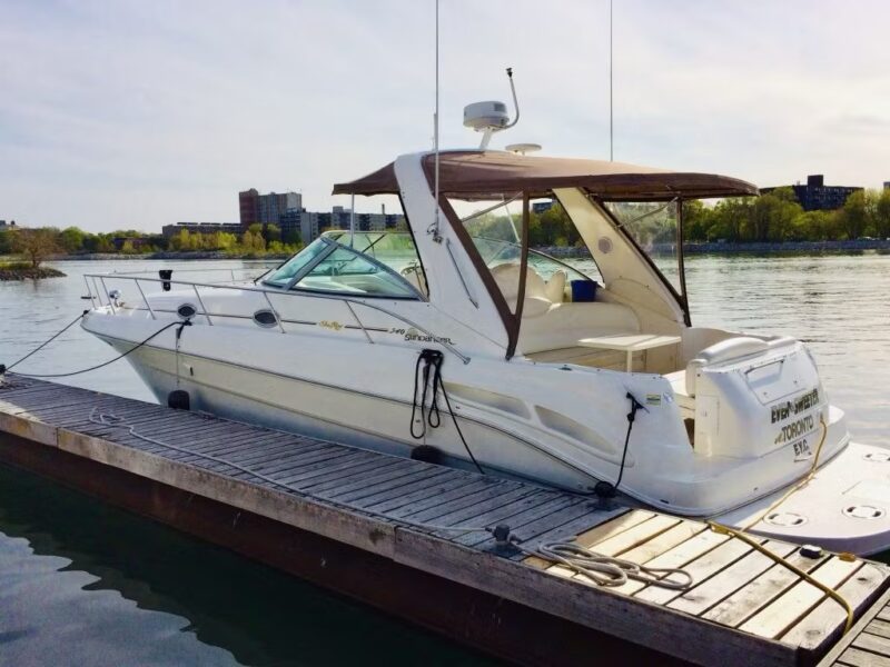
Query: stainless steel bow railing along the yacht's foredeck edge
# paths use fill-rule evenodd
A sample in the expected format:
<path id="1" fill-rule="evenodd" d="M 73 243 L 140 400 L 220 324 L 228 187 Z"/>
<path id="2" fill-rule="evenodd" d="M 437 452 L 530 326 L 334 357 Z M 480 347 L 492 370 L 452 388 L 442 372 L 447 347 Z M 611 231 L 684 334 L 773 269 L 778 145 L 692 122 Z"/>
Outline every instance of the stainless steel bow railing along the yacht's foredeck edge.
<path id="1" fill-rule="evenodd" d="M 457 358 L 459 358 L 464 364 L 469 364 L 469 357 L 461 352 L 452 342 L 448 342 L 442 337 L 436 336 L 432 331 L 429 331 L 423 325 L 418 325 L 417 322 L 411 320 L 409 318 L 395 312 L 388 308 L 383 306 L 378 306 L 376 303 L 368 302 L 364 299 L 357 299 L 353 297 L 344 297 L 338 295 L 324 295 L 324 293 L 306 293 L 300 291 L 280 291 L 274 289 L 266 289 L 263 287 L 248 287 L 245 285 L 237 285 L 234 282 L 230 283 L 220 283 L 220 282 L 195 282 L 191 280 L 177 280 L 175 278 L 149 278 L 149 277 L 141 277 L 132 273 L 85 273 L 83 275 L 83 283 L 87 286 L 87 292 L 90 302 L 92 303 L 93 308 L 110 308 L 111 312 L 117 315 L 118 309 L 120 308 L 119 305 L 115 303 L 115 299 L 111 298 L 108 286 L 106 285 L 106 279 L 113 279 L 113 280 L 129 280 L 132 281 L 136 286 L 139 296 L 145 303 L 146 310 L 149 312 L 151 319 L 158 319 L 158 313 L 156 309 L 151 307 L 151 301 L 146 296 L 145 290 L 142 289 L 142 283 L 169 283 L 170 286 L 177 285 L 182 286 L 185 288 L 191 288 L 195 292 L 195 298 L 198 300 L 198 305 L 200 307 L 200 312 L 198 315 L 202 315 L 207 319 L 208 326 L 214 326 L 214 318 L 237 318 L 244 319 L 245 316 L 243 313 L 226 313 L 226 312 L 209 312 L 204 299 L 201 298 L 200 290 L 229 290 L 229 291 L 244 291 L 244 292 L 256 292 L 263 295 L 266 303 L 269 307 L 269 310 L 275 315 L 275 318 L 278 322 L 278 329 L 281 334 L 288 334 L 288 330 L 285 329 L 285 323 L 294 323 L 294 320 L 288 320 L 281 317 L 281 313 L 273 303 L 273 297 L 275 299 L 278 298 L 293 298 L 293 299 L 327 299 L 330 301 L 342 302 L 345 308 L 348 310 L 350 319 L 355 320 L 356 327 L 363 331 L 365 338 L 368 344 L 374 345 L 375 341 L 370 336 L 370 330 L 362 319 L 358 317 L 356 312 L 356 306 L 360 308 L 367 308 L 370 310 L 376 310 L 378 312 L 383 312 L 388 317 L 392 317 L 408 327 L 413 327 L 418 331 L 422 331 L 425 336 L 428 336 L 432 342 L 436 342 L 447 349 L 449 352 L 454 354 Z M 303 322 L 305 323 L 305 322 Z M 317 322 L 316 322 L 317 323 Z"/>

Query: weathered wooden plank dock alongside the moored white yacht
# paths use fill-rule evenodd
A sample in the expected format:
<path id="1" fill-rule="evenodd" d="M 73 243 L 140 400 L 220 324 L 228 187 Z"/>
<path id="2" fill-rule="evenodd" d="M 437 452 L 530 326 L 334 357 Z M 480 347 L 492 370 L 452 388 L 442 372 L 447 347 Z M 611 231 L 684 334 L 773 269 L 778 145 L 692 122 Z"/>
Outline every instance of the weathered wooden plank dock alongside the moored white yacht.
<path id="1" fill-rule="evenodd" d="M 14 375 L 0 382 L 3 432 L 0 460 L 515 663 L 813 665 L 843 631 L 819 588 L 699 521 Z M 694 585 L 601 587 L 487 531 L 443 529 L 496 524 L 526 545 L 682 567 Z M 761 541 L 857 616 L 879 614 L 886 566 Z M 858 651 L 890 635 L 890 617 L 870 623 Z"/>

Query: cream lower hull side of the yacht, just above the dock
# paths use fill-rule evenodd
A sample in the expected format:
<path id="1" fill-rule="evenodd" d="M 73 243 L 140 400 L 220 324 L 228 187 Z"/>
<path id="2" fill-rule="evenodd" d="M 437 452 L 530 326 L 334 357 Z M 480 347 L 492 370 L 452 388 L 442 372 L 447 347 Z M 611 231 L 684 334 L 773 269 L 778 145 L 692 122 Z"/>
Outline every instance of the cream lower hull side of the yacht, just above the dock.
<path id="1" fill-rule="evenodd" d="M 194 410 L 396 456 L 409 457 L 416 447 L 432 445 L 447 465 L 474 467 L 444 407 L 441 426 L 424 428 L 411 402 L 383 395 L 196 355 L 179 354 L 177 359 L 160 348 L 142 348 L 128 360 L 161 404 L 180 389 L 188 392 Z M 425 431 L 421 438 L 411 436 L 413 418 L 415 432 Z M 575 491 L 590 490 L 597 481 L 504 428 L 463 415 L 456 419 L 487 472 Z"/>

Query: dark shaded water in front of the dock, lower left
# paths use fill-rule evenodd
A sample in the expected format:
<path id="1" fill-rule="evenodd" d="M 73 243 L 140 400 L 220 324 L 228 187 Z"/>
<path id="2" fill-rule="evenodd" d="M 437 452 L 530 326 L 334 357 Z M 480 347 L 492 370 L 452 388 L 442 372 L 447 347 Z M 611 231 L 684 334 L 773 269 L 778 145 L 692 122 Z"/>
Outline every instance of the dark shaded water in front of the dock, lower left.
<path id="1" fill-rule="evenodd" d="M 0 664 L 488 664 L 382 614 L 0 465 Z"/>

